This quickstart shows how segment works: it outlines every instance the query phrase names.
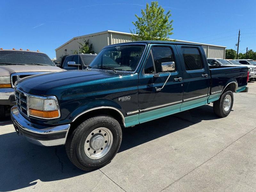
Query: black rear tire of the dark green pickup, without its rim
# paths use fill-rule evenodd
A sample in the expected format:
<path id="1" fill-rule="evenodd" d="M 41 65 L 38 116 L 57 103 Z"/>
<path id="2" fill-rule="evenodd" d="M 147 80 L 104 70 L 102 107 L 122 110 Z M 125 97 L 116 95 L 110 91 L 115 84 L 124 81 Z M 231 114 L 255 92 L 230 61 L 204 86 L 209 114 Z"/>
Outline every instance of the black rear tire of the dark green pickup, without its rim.
<path id="1" fill-rule="evenodd" d="M 224 100 L 227 95 L 230 95 L 231 98 L 231 105 L 230 108 L 226 111 L 224 110 Z M 234 103 L 234 96 L 232 91 L 226 91 L 220 95 L 220 99 L 213 102 L 213 111 L 219 117 L 226 117 L 230 113 Z"/>

